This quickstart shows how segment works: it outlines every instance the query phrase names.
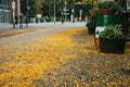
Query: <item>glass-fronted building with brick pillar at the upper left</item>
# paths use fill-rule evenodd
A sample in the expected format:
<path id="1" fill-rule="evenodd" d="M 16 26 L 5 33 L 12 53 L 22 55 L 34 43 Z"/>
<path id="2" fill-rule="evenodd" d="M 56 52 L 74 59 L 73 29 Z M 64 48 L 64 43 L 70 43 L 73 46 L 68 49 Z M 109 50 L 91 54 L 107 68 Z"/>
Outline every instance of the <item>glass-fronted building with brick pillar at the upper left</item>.
<path id="1" fill-rule="evenodd" d="M 20 0 L 0 0 L 0 23 L 12 23 L 13 11 L 12 2 L 15 2 L 15 15 L 21 14 L 21 1 Z M 17 17 L 18 21 L 18 17 Z"/>

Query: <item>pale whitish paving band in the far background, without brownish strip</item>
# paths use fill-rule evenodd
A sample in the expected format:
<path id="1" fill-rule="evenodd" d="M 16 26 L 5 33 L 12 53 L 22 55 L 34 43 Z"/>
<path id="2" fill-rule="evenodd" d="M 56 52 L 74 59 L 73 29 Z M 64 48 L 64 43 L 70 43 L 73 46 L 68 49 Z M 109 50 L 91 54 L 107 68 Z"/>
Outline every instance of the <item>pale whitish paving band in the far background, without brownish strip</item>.
<path id="1" fill-rule="evenodd" d="M 26 24 L 23 24 L 23 28 L 32 28 L 32 27 L 80 27 L 80 26 L 84 26 L 86 22 L 76 22 L 76 23 L 72 23 L 72 22 L 65 22 L 64 24 L 62 24 L 61 22 L 56 22 L 55 24 L 53 22 L 49 22 L 49 23 L 28 23 L 28 27 L 26 27 Z M 0 30 L 3 29 L 12 29 L 13 25 L 9 24 L 9 23 L 0 23 Z M 20 28 L 20 24 L 15 25 L 15 28 Z"/>

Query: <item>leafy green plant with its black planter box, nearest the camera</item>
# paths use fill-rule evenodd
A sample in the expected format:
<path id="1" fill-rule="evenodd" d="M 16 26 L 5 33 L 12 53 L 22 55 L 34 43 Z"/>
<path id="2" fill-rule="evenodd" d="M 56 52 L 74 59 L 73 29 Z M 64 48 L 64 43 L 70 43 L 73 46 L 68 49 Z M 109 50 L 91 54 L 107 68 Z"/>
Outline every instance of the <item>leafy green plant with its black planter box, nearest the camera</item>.
<path id="1" fill-rule="evenodd" d="M 120 25 L 108 25 L 100 34 L 100 51 L 106 53 L 123 53 L 126 38 Z"/>

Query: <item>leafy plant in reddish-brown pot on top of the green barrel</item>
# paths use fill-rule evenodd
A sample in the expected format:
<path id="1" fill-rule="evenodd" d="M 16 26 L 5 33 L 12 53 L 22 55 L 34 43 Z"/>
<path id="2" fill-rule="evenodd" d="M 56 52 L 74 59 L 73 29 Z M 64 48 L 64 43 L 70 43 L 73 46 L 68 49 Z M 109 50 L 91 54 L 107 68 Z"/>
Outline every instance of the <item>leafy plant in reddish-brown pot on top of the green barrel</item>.
<path id="1" fill-rule="evenodd" d="M 101 14 L 121 14 L 122 9 L 117 2 L 103 1 L 99 3 Z"/>

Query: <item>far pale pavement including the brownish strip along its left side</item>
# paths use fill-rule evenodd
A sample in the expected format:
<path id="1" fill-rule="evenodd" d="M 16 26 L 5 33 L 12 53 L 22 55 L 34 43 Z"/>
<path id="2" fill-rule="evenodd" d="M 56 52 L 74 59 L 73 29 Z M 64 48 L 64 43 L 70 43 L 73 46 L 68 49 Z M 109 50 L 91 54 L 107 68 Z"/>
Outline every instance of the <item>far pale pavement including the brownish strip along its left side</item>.
<path id="1" fill-rule="evenodd" d="M 80 27 L 80 26 L 86 26 L 86 22 L 76 22 L 76 23 L 72 23 L 72 22 L 65 22 L 64 24 L 62 24 L 61 22 L 56 22 L 54 24 L 54 22 L 49 22 L 49 23 L 28 23 L 28 25 L 26 26 L 26 24 L 23 24 L 23 28 L 20 28 L 20 24 L 15 25 L 15 28 L 13 28 L 13 24 L 9 24 L 9 23 L 0 23 L 0 38 L 1 37 L 9 37 L 9 36 L 13 36 L 16 34 L 22 34 L 22 33 L 26 33 L 26 32 L 31 32 L 31 30 L 36 30 L 36 29 L 41 29 L 41 28 L 49 28 L 49 27 L 55 27 L 55 28 L 70 28 L 70 27 Z"/>

